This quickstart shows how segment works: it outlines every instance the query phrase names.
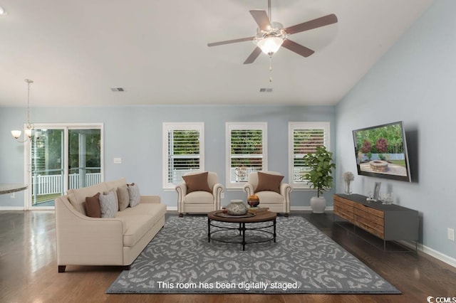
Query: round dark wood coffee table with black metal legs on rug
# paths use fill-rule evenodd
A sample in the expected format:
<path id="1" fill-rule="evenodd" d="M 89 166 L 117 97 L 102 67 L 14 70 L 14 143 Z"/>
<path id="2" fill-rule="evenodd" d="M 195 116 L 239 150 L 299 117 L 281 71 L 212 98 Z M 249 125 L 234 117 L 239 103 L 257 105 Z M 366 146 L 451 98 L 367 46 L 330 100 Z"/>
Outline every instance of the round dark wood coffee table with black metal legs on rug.
<path id="1" fill-rule="evenodd" d="M 219 216 L 217 216 L 217 214 Z M 271 211 L 262 211 L 259 213 L 255 213 L 254 216 L 249 213 L 249 216 L 247 217 L 242 217 L 242 216 L 229 216 L 226 214 L 222 214 L 222 211 L 211 211 L 210 213 L 207 213 L 207 239 L 208 242 L 211 242 L 211 240 L 219 241 L 219 242 L 224 242 L 224 243 L 238 243 L 242 245 L 242 250 L 245 250 L 245 245 L 246 244 L 252 244 L 252 243 L 263 243 L 263 242 L 269 242 L 271 240 L 274 240 L 274 243 L 276 242 L 276 218 L 277 218 L 277 213 L 271 212 Z M 239 223 L 239 227 L 227 227 L 227 226 L 221 226 L 218 224 L 214 224 L 215 222 L 227 222 L 227 223 Z M 249 223 L 261 223 L 261 222 L 271 222 L 269 225 L 261 225 L 261 226 L 254 226 L 254 227 L 247 227 L 249 226 Z M 247 226 L 246 226 L 247 225 Z M 211 232 L 211 227 L 218 228 L 217 230 L 212 230 Z M 272 232 L 269 231 L 268 229 L 272 228 Z M 221 240 L 217 238 L 212 238 L 212 235 L 214 233 L 218 233 L 223 230 L 239 230 L 239 235 L 242 235 L 242 241 L 229 241 L 229 240 Z M 247 242 L 245 234 L 247 230 L 258 230 L 261 231 L 262 233 L 266 233 L 269 235 L 269 237 L 266 237 L 263 240 L 259 241 L 252 241 L 252 242 Z"/>

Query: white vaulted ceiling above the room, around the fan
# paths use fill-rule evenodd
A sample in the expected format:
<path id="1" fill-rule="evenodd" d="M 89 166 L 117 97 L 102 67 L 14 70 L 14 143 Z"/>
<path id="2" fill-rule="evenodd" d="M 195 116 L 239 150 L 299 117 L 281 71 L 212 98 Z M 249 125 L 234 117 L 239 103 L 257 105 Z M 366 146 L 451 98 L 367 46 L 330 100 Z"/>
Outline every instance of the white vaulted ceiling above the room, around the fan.
<path id="1" fill-rule="evenodd" d="M 338 23 L 289 38 L 249 65 L 251 9 L 266 0 L 0 0 L 0 107 L 334 105 L 432 0 L 272 0 L 284 27 L 336 14 Z M 122 87 L 125 91 L 113 92 Z M 260 92 L 261 88 L 271 92 Z"/>

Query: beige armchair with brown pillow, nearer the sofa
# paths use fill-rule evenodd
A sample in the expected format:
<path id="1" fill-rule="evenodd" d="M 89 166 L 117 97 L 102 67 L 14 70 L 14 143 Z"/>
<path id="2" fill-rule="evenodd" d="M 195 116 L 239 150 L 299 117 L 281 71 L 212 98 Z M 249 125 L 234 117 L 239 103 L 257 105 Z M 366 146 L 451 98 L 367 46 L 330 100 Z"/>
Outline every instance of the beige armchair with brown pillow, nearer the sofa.
<path id="1" fill-rule="evenodd" d="M 222 184 L 217 183 L 217 174 L 211 171 L 195 171 L 182 176 L 184 183 L 176 186 L 177 212 L 208 213 L 220 209 Z"/>

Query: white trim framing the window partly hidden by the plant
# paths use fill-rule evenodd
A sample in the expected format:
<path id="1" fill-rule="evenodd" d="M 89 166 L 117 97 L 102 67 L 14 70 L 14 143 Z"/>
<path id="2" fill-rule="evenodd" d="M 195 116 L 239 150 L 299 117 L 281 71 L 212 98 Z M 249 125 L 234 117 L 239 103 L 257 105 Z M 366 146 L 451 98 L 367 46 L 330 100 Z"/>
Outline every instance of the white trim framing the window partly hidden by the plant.
<path id="1" fill-rule="evenodd" d="M 323 129 L 324 146 L 331 150 L 331 123 L 330 122 L 289 122 L 288 123 L 288 151 L 289 151 L 289 184 L 296 189 L 311 189 L 310 184 L 294 181 L 294 130 L 295 129 Z"/>

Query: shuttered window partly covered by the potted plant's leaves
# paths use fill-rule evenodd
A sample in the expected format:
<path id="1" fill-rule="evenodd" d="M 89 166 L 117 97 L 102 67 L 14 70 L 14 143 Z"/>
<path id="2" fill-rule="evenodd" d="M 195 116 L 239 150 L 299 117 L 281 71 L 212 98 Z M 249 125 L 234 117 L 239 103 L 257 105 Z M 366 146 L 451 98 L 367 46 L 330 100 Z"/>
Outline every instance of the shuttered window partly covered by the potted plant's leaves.
<path id="1" fill-rule="evenodd" d="M 289 183 L 294 188 L 309 188 L 302 180 L 308 169 L 304 154 L 313 154 L 316 147 L 329 149 L 329 122 L 289 122 Z"/>

